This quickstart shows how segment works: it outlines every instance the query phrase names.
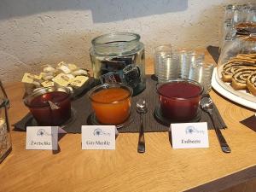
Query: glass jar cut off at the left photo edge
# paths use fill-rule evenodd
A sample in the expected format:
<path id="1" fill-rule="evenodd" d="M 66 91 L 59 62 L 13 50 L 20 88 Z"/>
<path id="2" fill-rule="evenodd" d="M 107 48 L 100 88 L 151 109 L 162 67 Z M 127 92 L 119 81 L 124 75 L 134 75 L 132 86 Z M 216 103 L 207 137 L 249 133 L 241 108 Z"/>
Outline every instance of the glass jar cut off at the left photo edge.
<path id="1" fill-rule="evenodd" d="M 8 119 L 9 99 L 0 80 L 0 163 L 12 150 Z"/>

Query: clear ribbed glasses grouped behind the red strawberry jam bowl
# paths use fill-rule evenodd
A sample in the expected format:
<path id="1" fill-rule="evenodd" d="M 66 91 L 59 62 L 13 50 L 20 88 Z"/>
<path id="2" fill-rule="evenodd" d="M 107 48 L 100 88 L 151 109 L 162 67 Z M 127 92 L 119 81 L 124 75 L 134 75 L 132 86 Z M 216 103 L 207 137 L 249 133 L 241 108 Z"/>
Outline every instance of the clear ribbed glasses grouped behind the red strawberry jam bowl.
<path id="1" fill-rule="evenodd" d="M 212 88 L 214 65 L 204 61 L 204 54 L 185 49 L 172 51 L 171 48 L 171 45 L 160 45 L 154 49 L 154 75 L 158 82 L 191 79 L 202 84 L 204 92 L 208 93 Z"/>

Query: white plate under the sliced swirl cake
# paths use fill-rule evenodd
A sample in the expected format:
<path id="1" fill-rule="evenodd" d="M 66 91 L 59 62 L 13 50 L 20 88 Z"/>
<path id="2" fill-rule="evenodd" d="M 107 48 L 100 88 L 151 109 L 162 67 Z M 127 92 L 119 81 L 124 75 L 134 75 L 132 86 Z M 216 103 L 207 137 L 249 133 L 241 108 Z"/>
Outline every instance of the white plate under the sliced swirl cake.
<path id="1" fill-rule="evenodd" d="M 237 93 L 239 94 L 238 96 L 238 94 L 236 95 L 234 91 L 225 89 L 224 86 L 218 83 L 218 80 L 219 79 L 217 74 L 217 68 L 215 67 L 212 74 L 212 87 L 214 88 L 214 90 L 217 90 L 220 95 L 226 97 L 227 99 L 230 99 L 232 102 L 236 102 L 238 104 L 241 104 L 242 106 L 256 110 L 256 97 L 255 102 L 253 102 L 246 98 L 246 93 L 243 93 L 240 90 L 234 90 L 237 91 Z"/>

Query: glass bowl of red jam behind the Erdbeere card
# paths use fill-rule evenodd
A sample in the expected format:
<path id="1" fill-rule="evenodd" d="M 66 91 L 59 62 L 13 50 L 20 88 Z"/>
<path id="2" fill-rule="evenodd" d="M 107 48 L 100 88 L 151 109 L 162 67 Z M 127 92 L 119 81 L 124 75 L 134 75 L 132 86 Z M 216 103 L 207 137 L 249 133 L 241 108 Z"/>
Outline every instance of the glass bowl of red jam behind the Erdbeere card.
<path id="1" fill-rule="evenodd" d="M 194 119 L 199 110 L 203 87 L 189 79 L 171 80 L 157 84 L 161 115 L 174 121 Z"/>

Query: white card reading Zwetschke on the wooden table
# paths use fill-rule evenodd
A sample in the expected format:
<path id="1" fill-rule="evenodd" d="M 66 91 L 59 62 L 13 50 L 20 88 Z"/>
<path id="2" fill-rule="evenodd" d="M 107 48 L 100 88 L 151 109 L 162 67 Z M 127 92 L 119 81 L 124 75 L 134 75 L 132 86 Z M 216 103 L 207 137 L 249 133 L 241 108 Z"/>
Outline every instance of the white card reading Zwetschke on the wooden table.
<path id="1" fill-rule="evenodd" d="M 27 126 L 26 149 L 57 150 L 57 126 Z"/>

